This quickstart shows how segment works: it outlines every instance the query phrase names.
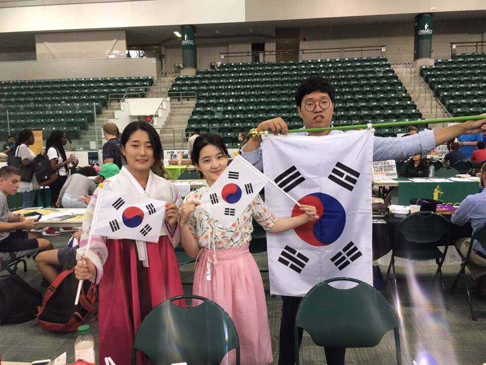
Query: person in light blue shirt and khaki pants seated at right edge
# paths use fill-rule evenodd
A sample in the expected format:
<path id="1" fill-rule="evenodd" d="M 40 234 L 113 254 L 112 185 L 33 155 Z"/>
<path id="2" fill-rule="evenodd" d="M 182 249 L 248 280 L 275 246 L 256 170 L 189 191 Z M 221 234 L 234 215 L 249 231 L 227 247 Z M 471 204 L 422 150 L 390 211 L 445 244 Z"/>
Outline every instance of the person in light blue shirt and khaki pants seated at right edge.
<path id="1" fill-rule="evenodd" d="M 479 172 L 481 186 L 486 182 L 486 164 L 482 165 Z M 451 222 L 458 226 L 464 226 L 466 222 L 471 223 L 472 231 L 476 231 L 481 225 L 486 223 L 486 192 L 468 195 L 461 203 L 459 208 L 451 217 Z M 455 242 L 456 249 L 465 257 L 471 244 L 471 237 L 459 238 Z M 483 268 L 468 265 L 467 268 L 471 276 L 476 280 L 476 290 L 474 296 L 486 298 L 486 250 L 482 248 L 478 241 L 472 243 L 472 250 L 469 255 L 472 264 L 483 266 Z"/>

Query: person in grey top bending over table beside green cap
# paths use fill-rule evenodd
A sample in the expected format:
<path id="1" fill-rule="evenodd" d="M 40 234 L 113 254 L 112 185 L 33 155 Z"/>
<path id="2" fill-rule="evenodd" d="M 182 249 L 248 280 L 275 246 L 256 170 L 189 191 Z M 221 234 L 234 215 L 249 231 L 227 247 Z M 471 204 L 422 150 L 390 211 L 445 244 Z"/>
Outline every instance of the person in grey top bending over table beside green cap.
<path id="1" fill-rule="evenodd" d="M 63 208 L 86 208 L 88 205 L 78 199 L 86 195 L 93 195 L 96 183 L 90 177 L 97 175 L 98 173 L 93 167 L 86 166 L 69 176 L 59 192 L 56 206 L 59 207 L 59 203 L 62 202 Z"/>

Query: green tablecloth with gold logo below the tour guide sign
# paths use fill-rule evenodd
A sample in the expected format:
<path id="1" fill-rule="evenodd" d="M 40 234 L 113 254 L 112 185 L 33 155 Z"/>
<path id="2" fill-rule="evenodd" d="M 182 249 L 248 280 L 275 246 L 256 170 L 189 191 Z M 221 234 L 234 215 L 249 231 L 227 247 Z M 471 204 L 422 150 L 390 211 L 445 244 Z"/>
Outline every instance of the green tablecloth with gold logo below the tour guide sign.
<path id="1" fill-rule="evenodd" d="M 412 198 L 438 199 L 454 205 L 479 191 L 479 182 L 467 179 L 448 182 L 413 182 L 409 178 L 399 177 L 394 180 L 398 180 L 399 205 L 409 205 Z"/>

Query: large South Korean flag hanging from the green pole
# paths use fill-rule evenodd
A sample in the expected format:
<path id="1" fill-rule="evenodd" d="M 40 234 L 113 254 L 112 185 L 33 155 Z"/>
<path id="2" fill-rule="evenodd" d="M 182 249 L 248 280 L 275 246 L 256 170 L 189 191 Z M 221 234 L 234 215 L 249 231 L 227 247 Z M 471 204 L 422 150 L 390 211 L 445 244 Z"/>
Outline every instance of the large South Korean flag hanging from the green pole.
<path id="1" fill-rule="evenodd" d="M 271 293 L 302 297 L 334 277 L 372 284 L 373 132 L 267 136 L 262 149 L 265 175 L 299 203 L 315 206 L 319 216 L 287 232 L 267 233 Z M 301 214 L 271 184 L 265 201 L 277 217 Z"/>

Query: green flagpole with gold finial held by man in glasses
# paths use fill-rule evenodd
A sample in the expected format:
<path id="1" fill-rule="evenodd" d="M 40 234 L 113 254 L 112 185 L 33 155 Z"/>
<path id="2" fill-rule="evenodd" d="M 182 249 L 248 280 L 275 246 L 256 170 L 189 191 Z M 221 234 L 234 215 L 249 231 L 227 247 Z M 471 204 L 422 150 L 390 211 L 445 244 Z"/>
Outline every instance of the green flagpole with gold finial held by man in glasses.
<path id="1" fill-rule="evenodd" d="M 404 121 L 404 122 L 390 122 L 390 123 L 374 123 L 371 124 L 372 128 L 389 128 L 400 127 L 407 125 L 420 125 L 420 124 L 435 124 L 435 123 L 453 123 L 453 122 L 466 122 L 472 120 L 486 119 L 485 115 L 469 116 L 469 117 L 453 117 L 453 118 L 437 118 L 437 119 L 424 119 L 421 121 Z M 328 130 L 350 130 L 356 128 L 366 128 L 367 124 L 359 125 L 347 125 L 340 127 L 325 127 L 325 128 L 306 128 L 306 129 L 289 129 L 288 133 L 298 132 L 323 132 Z M 267 134 L 268 131 L 259 131 L 257 128 L 250 129 L 250 137 L 257 138 L 258 136 Z"/>

